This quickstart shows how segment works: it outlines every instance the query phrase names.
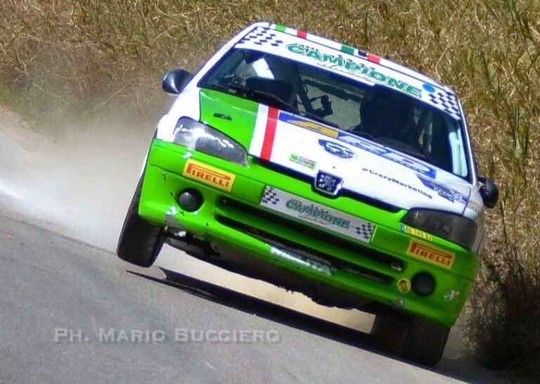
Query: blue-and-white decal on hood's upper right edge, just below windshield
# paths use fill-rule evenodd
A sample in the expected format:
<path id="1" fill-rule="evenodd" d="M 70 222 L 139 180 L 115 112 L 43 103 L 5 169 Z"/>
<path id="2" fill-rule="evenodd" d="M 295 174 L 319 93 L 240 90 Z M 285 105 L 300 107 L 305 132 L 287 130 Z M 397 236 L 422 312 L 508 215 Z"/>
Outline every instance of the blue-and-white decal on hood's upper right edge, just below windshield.
<path id="1" fill-rule="evenodd" d="M 413 157 L 403 155 L 397 151 L 393 151 L 388 147 L 373 143 L 373 141 L 362 139 L 359 136 L 340 132 L 338 140 L 349 143 L 356 148 L 363 149 L 364 151 L 368 151 L 369 153 L 373 153 L 373 155 L 378 155 L 381 158 L 397 162 L 404 167 L 413 169 L 413 171 L 424 174 L 425 176 L 431 177 L 432 179 L 435 179 L 435 175 L 437 174 L 435 168 L 432 168 L 429 165 L 424 164 L 423 162 L 415 160 Z"/>

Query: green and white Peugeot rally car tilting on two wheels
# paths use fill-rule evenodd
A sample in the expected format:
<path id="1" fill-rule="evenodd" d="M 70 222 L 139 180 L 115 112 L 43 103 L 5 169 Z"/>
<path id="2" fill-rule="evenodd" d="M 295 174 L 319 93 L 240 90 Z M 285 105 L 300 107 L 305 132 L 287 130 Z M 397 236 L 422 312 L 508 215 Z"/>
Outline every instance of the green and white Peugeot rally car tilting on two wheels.
<path id="1" fill-rule="evenodd" d="M 324 305 L 436 364 L 477 274 L 484 207 L 456 95 L 390 60 L 256 23 L 195 74 L 155 131 L 117 253 L 164 242 Z"/>

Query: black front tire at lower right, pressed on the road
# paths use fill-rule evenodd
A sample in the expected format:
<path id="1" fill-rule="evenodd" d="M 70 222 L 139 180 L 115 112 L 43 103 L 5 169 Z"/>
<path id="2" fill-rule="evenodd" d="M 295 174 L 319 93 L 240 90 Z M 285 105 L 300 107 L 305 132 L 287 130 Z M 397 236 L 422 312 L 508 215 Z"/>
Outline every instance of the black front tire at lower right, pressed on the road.
<path id="1" fill-rule="evenodd" d="M 450 328 L 418 317 L 411 319 L 403 355 L 420 364 L 434 366 L 442 358 Z"/>

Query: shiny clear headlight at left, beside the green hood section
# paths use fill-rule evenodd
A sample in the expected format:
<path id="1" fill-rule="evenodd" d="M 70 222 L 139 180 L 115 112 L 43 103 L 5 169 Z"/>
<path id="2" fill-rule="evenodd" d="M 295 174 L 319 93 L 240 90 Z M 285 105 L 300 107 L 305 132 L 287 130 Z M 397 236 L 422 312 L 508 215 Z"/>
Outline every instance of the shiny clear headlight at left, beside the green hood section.
<path id="1" fill-rule="evenodd" d="M 181 117 L 176 123 L 173 141 L 220 159 L 248 165 L 248 154 L 240 143 L 188 117 Z"/>

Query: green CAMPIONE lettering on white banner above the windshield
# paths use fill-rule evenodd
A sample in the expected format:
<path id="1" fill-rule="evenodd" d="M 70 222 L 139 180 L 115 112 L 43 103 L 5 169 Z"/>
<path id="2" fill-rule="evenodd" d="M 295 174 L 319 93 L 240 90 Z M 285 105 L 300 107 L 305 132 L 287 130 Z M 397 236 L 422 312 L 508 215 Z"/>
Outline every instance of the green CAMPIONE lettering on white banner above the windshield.
<path id="1" fill-rule="evenodd" d="M 337 55 L 321 53 L 319 49 L 306 44 L 287 44 L 287 49 L 292 53 L 314 59 L 323 67 L 345 72 L 354 77 L 358 77 L 359 79 L 363 79 L 370 84 L 386 84 L 389 87 L 399 89 L 411 96 L 417 98 L 422 97 L 422 90 L 420 88 L 390 76 L 388 73 L 385 73 L 383 68 L 376 69 L 368 67 L 364 63 L 358 63 L 350 58 L 344 58 L 339 53 Z"/>

